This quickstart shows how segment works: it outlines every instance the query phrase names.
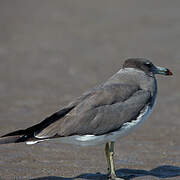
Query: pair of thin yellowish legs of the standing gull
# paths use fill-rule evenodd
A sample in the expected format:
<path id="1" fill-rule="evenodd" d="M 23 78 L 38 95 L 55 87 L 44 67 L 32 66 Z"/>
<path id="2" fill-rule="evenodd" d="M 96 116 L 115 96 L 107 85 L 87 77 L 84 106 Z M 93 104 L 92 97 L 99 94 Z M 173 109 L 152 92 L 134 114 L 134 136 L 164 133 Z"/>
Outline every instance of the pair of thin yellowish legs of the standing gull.
<path id="1" fill-rule="evenodd" d="M 106 158 L 108 163 L 108 174 L 109 178 L 113 180 L 120 180 L 121 178 L 117 178 L 114 168 L 114 142 L 108 142 L 105 146 Z"/>

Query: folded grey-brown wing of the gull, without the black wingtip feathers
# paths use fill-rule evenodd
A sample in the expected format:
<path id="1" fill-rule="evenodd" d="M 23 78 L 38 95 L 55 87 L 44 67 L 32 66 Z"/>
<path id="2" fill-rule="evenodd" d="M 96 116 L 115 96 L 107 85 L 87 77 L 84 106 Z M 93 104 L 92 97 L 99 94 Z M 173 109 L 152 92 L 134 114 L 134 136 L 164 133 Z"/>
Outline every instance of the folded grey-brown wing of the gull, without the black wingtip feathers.
<path id="1" fill-rule="evenodd" d="M 112 84 L 84 94 L 66 115 L 36 133 L 36 138 L 101 135 L 136 118 L 151 94 L 138 86 Z M 67 106 L 68 107 L 68 106 Z"/>

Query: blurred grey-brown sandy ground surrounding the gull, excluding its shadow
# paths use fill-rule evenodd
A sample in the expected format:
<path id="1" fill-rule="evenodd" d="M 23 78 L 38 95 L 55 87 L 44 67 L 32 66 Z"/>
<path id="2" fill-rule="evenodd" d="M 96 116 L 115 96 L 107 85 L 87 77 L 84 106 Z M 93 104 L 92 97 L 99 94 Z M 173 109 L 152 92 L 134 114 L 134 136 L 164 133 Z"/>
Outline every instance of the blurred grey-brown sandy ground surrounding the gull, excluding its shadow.
<path id="1" fill-rule="evenodd" d="M 153 114 L 133 136 L 116 143 L 116 169 L 159 171 L 168 165 L 177 173 L 179 0 L 1 0 L 0 135 L 43 120 L 105 81 L 128 57 L 149 58 L 171 69 L 174 76 L 158 77 Z M 0 147 L 0 179 L 5 180 L 79 175 L 79 179 L 103 179 L 95 174 L 105 174 L 106 167 L 103 146 L 78 148 L 54 140 Z M 159 179 L 136 179 L 148 178 Z"/>

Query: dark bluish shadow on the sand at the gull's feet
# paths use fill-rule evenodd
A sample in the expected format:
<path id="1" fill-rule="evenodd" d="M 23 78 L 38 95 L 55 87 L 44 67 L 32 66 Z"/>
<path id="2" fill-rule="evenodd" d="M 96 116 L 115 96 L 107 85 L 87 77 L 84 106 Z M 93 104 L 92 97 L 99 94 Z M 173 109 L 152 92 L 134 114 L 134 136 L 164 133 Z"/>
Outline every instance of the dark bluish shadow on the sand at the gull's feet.
<path id="1" fill-rule="evenodd" d="M 171 166 L 171 165 L 164 165 L 158 166 L 150 171 L 141 170 L 141 169 L 118 169 L 116 171 L 118 177 L 124 178 L 125 180 L 130 180 L 136 177 L 143 177 L 143 176 L 154 176 L 158 178 L 172 178 L 180 176 L 180 167 Z M 75 179 L 84 179 L 84 180 L 106 180 L 107 175 L 96 173 L 96 174 L 80 174 L 76 177 L 58 177 L 58 176 L 46 176 L 46 177 L 39 177 L 30 180 L 75 180 Z"/>

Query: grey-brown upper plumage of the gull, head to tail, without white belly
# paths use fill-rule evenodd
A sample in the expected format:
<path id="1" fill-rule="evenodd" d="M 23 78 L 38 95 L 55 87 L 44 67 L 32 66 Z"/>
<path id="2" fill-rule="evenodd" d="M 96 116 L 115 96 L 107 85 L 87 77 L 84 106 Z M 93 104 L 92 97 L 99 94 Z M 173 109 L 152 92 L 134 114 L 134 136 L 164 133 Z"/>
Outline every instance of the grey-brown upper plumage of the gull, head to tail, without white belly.
<path id="1" fill-rule="evenodd" d="M 128 59 L 105 83 L 84 93 L 37 125 L 0 138 L 0 143 L 28 142 L 71 136 L 101 136 L 134 121 L 157 94 L 155 66 L 142 58 Z M 168 72 L 167 72 L 168 75 Z M 6 141 L 5 141 L 6 138 Z M 4 140 L 4 141 L 3 141 Z"/>

